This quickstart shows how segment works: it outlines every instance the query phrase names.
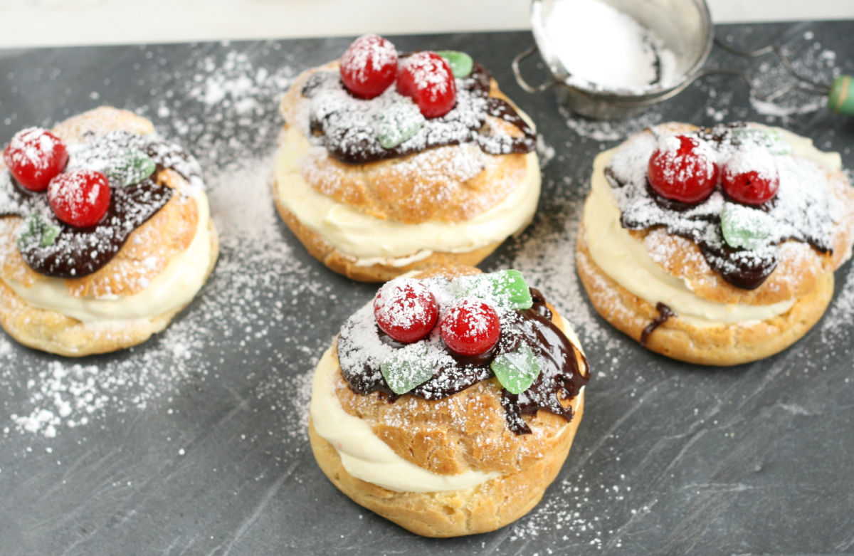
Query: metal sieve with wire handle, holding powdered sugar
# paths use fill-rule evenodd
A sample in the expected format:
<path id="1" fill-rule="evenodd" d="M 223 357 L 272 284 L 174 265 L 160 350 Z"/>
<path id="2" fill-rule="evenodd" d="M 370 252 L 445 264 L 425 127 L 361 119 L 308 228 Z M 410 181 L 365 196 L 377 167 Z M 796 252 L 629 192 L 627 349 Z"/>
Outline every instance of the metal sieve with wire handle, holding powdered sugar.
<path id="1" fill-rule="evenodd" d="M 744 51 L 716 39 L 709 7 L 705 0 L 600 1 L 629 15 L 664 41 L 664 46 L 676 55 L 676 78 L 670 83 L 620 90 L 606 89 L 601 85 L 572 76 L 555 53 L 554 38 L 549 37 L 547 32 L 546 20 L 552 13 L 555 0 L 533 0 L 531 32 L 534 35 L 535 44 L 512 61 L 516 81 L 524 91 L 537 93 L 553 88 L 559 99 L 577 114 L 597 120 L 618 120 L 628 118 L 656 102 L 673 97 L 690 85 L 694 79 L 703 75 L 724 73 L 744 79 L 754 95 L 763 101 L 773 101 L 788 91 L 799 89 L 816 95 L 826 95 L 829 109 L 840 114 L 854 115 L 854 78 L 840 75 L 830 85 L 816 83 L 795 71 L 779 46 L 769 45 L 757 50 Z M 736 56 L 752 58 L 774 53 L 795 81 L 777 91 L 763 94 L 745 72 L 726 67 L 703 68 L 712 44 L 717 44 Z M 522 76 L 519 66 L 537 49 L 540 50 L 542 59 L 546 61 L 550 79 L 541 85 L 530 85 Z"/>

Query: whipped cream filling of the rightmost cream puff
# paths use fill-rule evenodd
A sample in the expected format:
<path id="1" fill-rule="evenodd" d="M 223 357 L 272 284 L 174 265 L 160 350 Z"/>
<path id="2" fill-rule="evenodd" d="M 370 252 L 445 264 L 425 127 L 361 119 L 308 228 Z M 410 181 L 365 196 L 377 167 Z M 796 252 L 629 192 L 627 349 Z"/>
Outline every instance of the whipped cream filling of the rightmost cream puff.
<path id="1" fill-rule="evenodd" d="M 782 129 L 777 131 L 792 145 L 794 155 L 832 170 L 841 167 L 838 153 L 824 153 L 809 138 Z M 605 167 L 617 149 L 606 150 L 596 157 L 591 192 L 582 215 L 590 255 L 609 278 L 651 305 L 663 302 L 678 318 L 695 326 L 772 319 L 792 308 L 794 299 L 770 305 L 709 301 L 695 294 L 686 280 L 664 272 L 646 252 L 644 243 L 632 237 L 620 223 L 620 209 L 611 193 L 611 184 L 605 179 Z"/>

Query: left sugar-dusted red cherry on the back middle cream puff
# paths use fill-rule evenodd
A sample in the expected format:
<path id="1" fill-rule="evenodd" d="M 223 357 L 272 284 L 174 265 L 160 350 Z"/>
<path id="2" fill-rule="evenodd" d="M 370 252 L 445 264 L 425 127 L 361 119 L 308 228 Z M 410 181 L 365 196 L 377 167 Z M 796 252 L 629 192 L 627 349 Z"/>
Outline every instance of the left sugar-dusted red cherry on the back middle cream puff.
<path id="1" fill-rule="evenodd" d="M 395 45 L 379 35 L 362 35 L 344 51 L 340 71 L 344 86 L 356 97 L 377 97 L 395 81 Z"/>

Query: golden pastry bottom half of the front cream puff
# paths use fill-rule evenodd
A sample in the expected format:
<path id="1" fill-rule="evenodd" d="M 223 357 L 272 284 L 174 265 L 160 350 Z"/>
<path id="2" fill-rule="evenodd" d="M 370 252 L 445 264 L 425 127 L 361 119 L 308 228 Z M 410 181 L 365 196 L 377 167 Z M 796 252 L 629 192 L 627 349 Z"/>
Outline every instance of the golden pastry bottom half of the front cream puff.
<path id="1" fill-rule="evenodd" d="M 326 477 L 355 503 L 422 536 L 486 533 L 528 513 L 552 483 L 576 436 L 584 411 L 584 391 L 572 401 L 574 415 L 558 442 L 531 465 L 494 477 L 471 489 L 445 492 L 396 492 L 348 473 L 336 449 L 308 423 L 314 458 Z"/>

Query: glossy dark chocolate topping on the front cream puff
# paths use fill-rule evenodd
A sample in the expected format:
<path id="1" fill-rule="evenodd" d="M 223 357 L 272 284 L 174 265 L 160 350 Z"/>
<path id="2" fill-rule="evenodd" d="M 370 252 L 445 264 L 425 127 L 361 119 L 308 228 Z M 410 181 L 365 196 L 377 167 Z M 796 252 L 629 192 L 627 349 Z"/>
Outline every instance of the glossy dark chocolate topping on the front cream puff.
<path id="1" fill-rule="evenodd" d="M 539 290 L 530 289 L 534 304 L 529 309 L 513 310 L 501 317 L 499 341 L 487 353 L 465 357 L 447 350 L 438 338 L 438 327 L 427 342 L 437 351 L 434 357 L 433 377 L 408 392 L 425 400 L 441 400 L 470 386 L 493 377 L 489 364 L 499 354 L 511 352 L 525 342 L 541 364 L 541 372 L 521 394 L 502 390 L 501 405 L 505 410 L 508 429 L 517 435 L 531 432 L 524 415 L 533 415 L 544 409 L 569 421 L 569 401 L 578 395 L 590 378 L 587 360 L 552 322 L 552 312 Z M 337 340 L 338 360 L 342 376 L 350 389 L 357 394 L 380 392 L 389 402 L 400 395 L 389 389 L 380 364 L 384 356 L 401 349 L 405 344 L 386 336 L 373 319 L 370 304 L 354 313 L 343 325 Z M 580 355 L 585 369 L 579 369 L 576 356 Z"/>

